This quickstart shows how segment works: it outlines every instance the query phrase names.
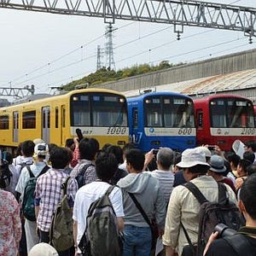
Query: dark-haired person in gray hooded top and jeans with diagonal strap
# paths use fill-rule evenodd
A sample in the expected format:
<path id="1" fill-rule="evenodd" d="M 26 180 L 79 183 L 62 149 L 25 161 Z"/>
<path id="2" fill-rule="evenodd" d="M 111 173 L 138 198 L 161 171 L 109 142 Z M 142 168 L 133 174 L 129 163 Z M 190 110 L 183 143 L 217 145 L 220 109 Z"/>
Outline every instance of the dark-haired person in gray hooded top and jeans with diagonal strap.
<path id="1" fill-rule="evenodd" d="M 130 149 L 125 154 L 127 176 L 117 183 L 123 192 L 125 210 L 124 256 L 150 255 L 152 236 L 150 227 L 131 199 L 134 195 L 147 214 L 163 233 L 166 218 L 166 202 L 159 181 L 148 172 L 143 172 L 145 156 L 139 149 Z"/>

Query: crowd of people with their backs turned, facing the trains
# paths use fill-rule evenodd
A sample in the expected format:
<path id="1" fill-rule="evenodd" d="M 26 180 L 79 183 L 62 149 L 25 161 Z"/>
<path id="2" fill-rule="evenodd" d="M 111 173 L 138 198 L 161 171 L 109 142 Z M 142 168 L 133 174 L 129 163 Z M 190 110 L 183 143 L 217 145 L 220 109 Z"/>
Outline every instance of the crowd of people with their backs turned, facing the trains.
<path id="1" fill-rule="evenodd" d="M 112 185 L 115 187 L 109 200 L 117 228 L 124 236 L 122 255 L 152 253 L 152 227 L 140 208 L 154 220 L 162 245 L 159 255 L 185 255 L 187 236 L 193 244 L 197 242 L 201 207 L 183 186 L 188 182 L 200 189 L 207 201 L 218 201 L 218 183 L 224 184 L 229 201 L 239 207 L 246 221 L 238 233 L 246 237 L 245 241 L 241 239 L 241 247 L 246 242 L 251 247 L 243 252 L 256 255 L 255 156 L 254 142 L 247 143 L 244 154 L 238 155 L 224 154 L 218 146 L 210 151 L 207 145 L 186 149 L 182 154 L 172 148 L 144 154 L 131 143 L 124 148 L 106 144 L 100 150 L 95 138 L 86 137 L 80 141 L 67 139 L 63 148 L 47 145 L 41 139 L 25 141 L 20 143 L 15 158 L 1 152 L 0 256 L 79 255 L 89 208 Z M 37 177 L 35 219 L 26 218 L 20 210 L 31 177 Z M 68 205 L 73 208 L 73 247 L 58 252 L 49 245 L 49 229 L 67 177 Z M 212 230 L 204 255 L 241 254 Z"/>

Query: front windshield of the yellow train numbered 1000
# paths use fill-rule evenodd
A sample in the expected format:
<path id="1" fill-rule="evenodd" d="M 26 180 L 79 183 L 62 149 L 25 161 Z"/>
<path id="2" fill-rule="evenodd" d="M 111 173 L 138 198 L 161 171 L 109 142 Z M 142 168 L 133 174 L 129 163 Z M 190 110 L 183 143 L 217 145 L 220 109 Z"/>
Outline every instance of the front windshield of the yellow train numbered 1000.
<path id="1" fill-rule="evenodd" d="M 127 103 L 124 96 L 108 93 L 86 93 L 71 97 L 71 125 L 126 127 Z"/>

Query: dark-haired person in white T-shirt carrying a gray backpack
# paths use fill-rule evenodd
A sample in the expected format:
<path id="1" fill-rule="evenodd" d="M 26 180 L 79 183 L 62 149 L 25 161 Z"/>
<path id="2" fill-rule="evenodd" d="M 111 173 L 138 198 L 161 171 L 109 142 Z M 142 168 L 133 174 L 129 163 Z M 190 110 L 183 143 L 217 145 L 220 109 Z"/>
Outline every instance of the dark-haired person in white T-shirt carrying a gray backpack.
<path id="1" fill-rule="evenodd" d="M 110 188 L 110 180 L 113 178 L 117 166 L 118 162 L 113 154 L 108 152 L 98 154 L 96 158 L 96 175 L 98 179 L 85 184 L 77 192 L 73 207 L 73 237 L 77 253 L 80 253 L 78 245 L 86 228 L 86 217 L 90 205 Z M 113 188 L 109 195 L 109 200 L 117 217 L 118 229 L 123 230 L 124 209 L 122 193 L 118 187 Z"/>

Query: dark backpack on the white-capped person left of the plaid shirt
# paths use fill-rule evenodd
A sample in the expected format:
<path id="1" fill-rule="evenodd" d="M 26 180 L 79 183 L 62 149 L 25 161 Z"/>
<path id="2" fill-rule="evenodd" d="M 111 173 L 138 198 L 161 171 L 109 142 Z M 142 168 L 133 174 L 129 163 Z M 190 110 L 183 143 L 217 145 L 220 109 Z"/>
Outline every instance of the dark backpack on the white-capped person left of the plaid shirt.
<path id="1" fill-rule="evenodd" d="M 49 170 L 49 166 L 44 166 L 42 171 L 39 173 L 38 177 L 35 177 L 33 175 L 30 166 L 26 166 L 26 169 L 29 172 L 30 178 L 26 182 L 26 187 L 24 189 L 21 211 L 25 216 L 25 218 L 27 218 L 30 221 L 35 221 L 36 215 L 35 215 L 35 205 L 34 205 L 34 193 L 36 189 L 36 183 L 37 183 L 38 177 Z"/>

